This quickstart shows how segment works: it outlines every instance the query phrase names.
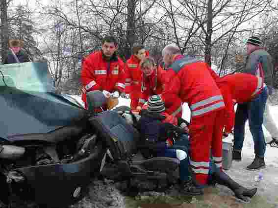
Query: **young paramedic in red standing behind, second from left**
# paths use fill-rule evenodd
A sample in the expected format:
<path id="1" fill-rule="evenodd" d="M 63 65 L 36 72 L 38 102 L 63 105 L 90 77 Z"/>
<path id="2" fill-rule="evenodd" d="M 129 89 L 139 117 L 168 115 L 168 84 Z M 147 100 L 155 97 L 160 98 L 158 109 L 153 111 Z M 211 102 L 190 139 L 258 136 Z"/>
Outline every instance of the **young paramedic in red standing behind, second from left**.
<path id="1" fill-rule="evenodd" d="M 126 94 L 130 95 L 130 107 L 136 109 L 141 94 L 142 71 L 140 62 L 149 56 L 149 51 L 143 45 L 133 46 L 132 55 L 126 61 Z"/>

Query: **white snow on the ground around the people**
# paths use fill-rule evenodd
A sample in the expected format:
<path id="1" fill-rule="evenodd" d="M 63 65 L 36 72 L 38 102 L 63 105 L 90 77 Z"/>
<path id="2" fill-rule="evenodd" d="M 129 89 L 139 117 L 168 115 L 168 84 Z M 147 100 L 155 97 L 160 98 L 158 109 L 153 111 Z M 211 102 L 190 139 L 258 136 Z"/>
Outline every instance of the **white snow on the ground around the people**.
<path id="1" fill-rule="evenodd" d="M 76 99 L 80 100 L 80 96 L 73 95 Z M 82 101 L 81 101 L 82 102 Z M 119 105 L 129 106 L 130 100 L 119 98 Z M 270 106 L 272 116 L 278 125 L 278 106 Z M 183 118 L 190 120 L 190 110 L 187 104 L 183 105 Z M 269 133 L 264 129 L 264 134 L 267 140 L 270 139 Z M 226 141 L 231 142 L 232 136 L 229 136 Z M 248 123 L 246 125 L 244 147 L 242 149 L 242 161 L 232 162 L 232 167 L 227 170 L 227 174 L 235 179 L 239 184 L 246 187 L 258 187 L 257 196 L 263 197 L 268 203 L 275 205 L 272 208 L 278 208 L 278 148 L 272 148 L 269 145 L 266 147 L 265 163 L 266 167 L 257 170 L 249 171 L 246 167 L 253 162 L 254 158 L 253 138 L 249 130 Z M 257 181 L 258 175 L 262 175 L 262 180 Z M 226 187 L 220 187 L 222 194 L 231 195 L 231 191 Z M 257 199 L 259 200 L 259 199 Z M 266 207 L 261 207 L 266 208 Z"/>

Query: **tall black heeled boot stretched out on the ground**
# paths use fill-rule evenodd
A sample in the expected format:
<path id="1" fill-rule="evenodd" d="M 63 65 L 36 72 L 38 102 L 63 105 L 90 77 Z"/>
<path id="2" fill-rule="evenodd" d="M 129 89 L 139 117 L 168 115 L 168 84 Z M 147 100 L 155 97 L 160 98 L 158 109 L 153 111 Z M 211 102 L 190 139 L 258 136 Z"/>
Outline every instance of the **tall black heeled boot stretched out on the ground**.
<path id="1" fill-rule="evenodd" d="M 257 191 L 257 188 L 248 189 L 239 185 L 224 172 L 215 172 L 212 176 L 217 184 L 227 186 L 234 192 L 237 198 L 243 201 L 248 201 L 247 197 L 253 197 Z"/>

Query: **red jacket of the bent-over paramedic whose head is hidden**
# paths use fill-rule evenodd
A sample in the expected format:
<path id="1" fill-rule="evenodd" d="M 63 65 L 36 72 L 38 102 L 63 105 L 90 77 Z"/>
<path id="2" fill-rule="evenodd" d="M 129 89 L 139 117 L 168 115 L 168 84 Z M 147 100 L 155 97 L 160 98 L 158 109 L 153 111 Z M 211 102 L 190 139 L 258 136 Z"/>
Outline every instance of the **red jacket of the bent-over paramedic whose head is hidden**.
<path id="1" fill-rule="evenodd" d="M 237 103 L 251 101 L 263 89 L 263 79 L 247 73 L 226 75 L 216 81 L 225 101 L 225 132 L 230 133 L 234 125 L 234 100 Z"/>

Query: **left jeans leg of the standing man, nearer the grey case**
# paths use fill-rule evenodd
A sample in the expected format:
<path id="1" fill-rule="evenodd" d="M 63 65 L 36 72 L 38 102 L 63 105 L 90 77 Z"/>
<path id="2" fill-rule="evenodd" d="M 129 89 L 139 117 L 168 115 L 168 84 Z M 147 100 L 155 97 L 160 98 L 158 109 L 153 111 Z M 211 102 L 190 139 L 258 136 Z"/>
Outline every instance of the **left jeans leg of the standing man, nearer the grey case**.
<path id="1" fill-rule="evenodd" d="M 237 104 L 234 121 L 233 160 L 241 161 L 245 122 L 248 118 L 248 104 Z"/>

